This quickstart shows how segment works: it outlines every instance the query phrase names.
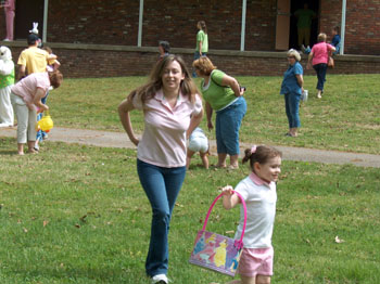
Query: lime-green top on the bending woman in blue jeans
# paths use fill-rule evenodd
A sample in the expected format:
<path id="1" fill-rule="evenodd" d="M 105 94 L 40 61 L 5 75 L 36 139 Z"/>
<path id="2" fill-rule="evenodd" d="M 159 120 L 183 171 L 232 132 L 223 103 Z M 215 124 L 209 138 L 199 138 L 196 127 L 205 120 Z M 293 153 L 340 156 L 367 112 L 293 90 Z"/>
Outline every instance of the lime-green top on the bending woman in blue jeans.
<path id="1" fill-rule="evenodd" d="M 224 76 L 224 72 L 215 69 L 211 73 L 208 86 L 204 86 L 204 80 L 201 82 L 203 98 L 210 103 L 214 111 L 219 111 L 226 107 L 237 99 L 230 87 L 221 86 L 221 79 Z"/>

